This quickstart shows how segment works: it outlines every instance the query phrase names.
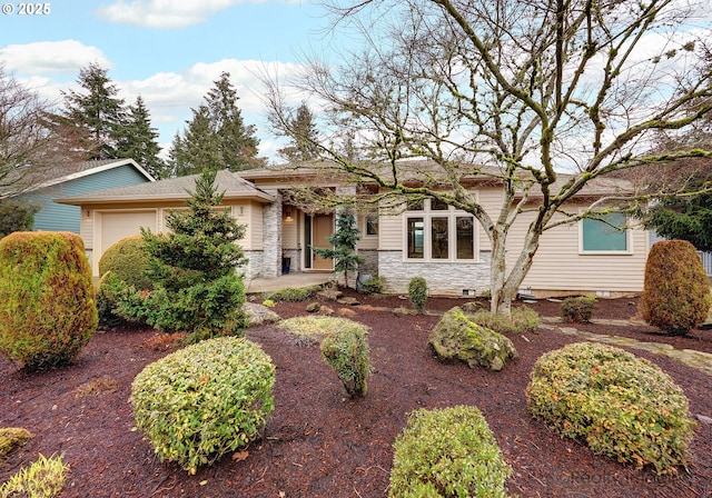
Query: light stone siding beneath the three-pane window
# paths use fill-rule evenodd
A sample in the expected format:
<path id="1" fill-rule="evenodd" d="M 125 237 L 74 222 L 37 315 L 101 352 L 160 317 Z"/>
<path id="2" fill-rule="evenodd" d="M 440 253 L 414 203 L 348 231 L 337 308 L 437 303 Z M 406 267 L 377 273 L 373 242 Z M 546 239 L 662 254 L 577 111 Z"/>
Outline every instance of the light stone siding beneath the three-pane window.
<path id="1" fill-rule="evenodd" d="M 490 289 L 490 252 L 481 252 L 478 262 L 404 261 L 402 251 L 378 252 L 378 275 L 385 277 L 387 292 L 408 291 L 413 277 L 427 281 L 428 293 L 436 296 L 481 296 Z"/>

